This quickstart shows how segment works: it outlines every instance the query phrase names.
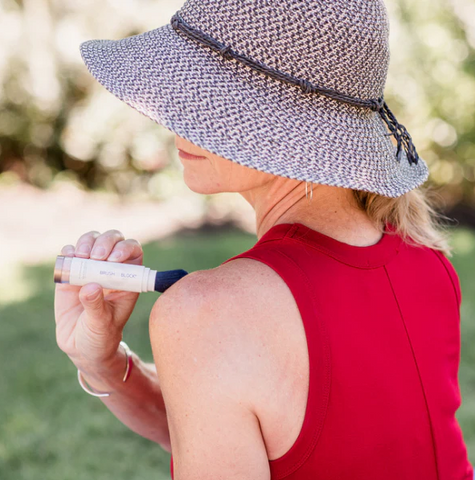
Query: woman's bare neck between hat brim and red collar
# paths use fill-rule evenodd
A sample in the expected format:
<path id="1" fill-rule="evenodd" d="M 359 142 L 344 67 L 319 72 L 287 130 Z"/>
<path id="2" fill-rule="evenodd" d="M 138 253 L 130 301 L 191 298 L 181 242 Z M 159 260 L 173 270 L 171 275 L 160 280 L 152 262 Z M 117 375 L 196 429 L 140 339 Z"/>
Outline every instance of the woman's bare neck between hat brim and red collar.
<path id="1" fill-rule="evenodd" d="M 381 239 L 381 232 L 358 208 L 350 189 L 276 177 L 241 195 L 256 213 L 256 234 L 260 239 L 274 225 L 301 223 L 336 240 L 367 246 Z"/>

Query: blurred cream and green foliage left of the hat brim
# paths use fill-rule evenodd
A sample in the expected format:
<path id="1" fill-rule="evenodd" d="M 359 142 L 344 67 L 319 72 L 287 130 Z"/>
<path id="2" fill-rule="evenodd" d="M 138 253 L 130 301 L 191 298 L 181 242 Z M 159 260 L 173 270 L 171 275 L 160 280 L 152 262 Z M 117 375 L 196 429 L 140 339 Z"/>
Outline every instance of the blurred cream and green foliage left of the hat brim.
<path id="1" fill-rule="evenodd" d="M 157 199 L 185 188 L 171 132 L 107 92 L 79 54 L 87 39 L 118 39 L 167 23 L 181 3 L 2 0 L 0 171 L 10 172 L 6 181 L 46 189 L 69 180 Z"/>

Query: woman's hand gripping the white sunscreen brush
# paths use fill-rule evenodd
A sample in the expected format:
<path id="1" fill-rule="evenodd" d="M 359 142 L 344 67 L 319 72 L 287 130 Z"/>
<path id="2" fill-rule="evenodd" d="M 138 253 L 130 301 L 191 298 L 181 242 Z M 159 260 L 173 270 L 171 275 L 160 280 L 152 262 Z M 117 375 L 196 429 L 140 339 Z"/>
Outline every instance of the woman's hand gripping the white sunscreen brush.
<path id="1" fill-rule="evenodd" d="M 95 255 L 101 247 L 103 253 Z M 115 253 L 120 256 L 112 257 Z M 61 254 L 134 265 L 142 265 L 143 261 L 140 243 L 125 240 L 118 230 L 85 233 L 76 247 L 65 245 Z M 138 297 L 139 293 L 103 289 L 98 283 L 82 287 L 56 284 L 56 341 L 81 372 L 100 378 L 112 365 Z"/>

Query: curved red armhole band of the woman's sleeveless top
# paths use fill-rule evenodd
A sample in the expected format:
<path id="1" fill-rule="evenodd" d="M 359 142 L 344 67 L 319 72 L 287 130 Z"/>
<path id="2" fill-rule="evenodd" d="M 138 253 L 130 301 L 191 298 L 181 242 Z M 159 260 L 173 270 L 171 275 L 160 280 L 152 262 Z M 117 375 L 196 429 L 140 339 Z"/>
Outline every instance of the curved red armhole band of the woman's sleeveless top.
<path id="1" fill-rule="evenodd" d="M 273 480 L 290 475 L 311 455 L 323 429 L 331 384 L 330 343 L 325 325 L 318 318 L 315 285 L 311 284 L 299 265 L 279 248 L 281 242 L 292 242 L 291 237 L 284 235 L 276 240 L 258 243 L 250 250 L 223 262 L 250 258 L 272 268 L 290 289 L 305 328 L 310 377 L 305 418 L 291 449 L 282 457 L 269 461 Z"/>

